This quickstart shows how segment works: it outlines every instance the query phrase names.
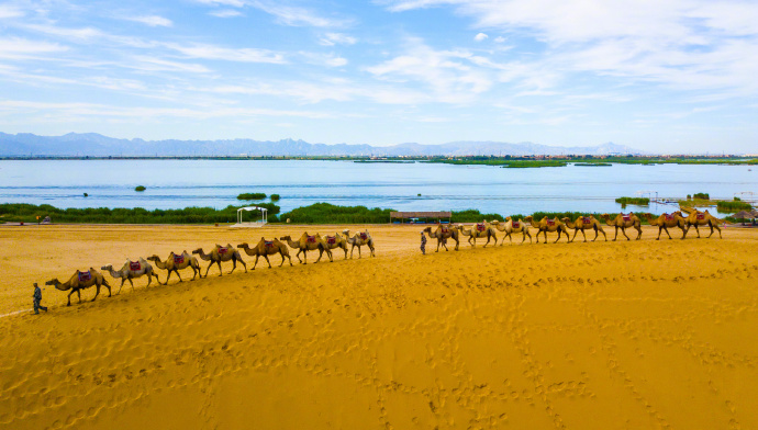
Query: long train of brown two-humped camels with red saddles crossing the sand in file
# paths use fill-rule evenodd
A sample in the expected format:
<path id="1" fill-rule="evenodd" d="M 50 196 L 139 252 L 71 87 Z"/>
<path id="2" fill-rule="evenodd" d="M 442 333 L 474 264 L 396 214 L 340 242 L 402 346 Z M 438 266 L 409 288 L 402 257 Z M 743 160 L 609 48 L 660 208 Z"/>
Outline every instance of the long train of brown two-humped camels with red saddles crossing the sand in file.
<path id="1" fill-rule="evenodd" d="M 698 210 L 691 210 L 687 215 L 683 215 L 681 211 L 677 211 L 672 214 L 661 214 L 659 216 L 643 214 L 643 217 L 650 224 L 650 226 L 658 227 L 658 237 L 656 240 L 660 240 L 660 235 L 664 231 L 666 231 L 666 235 L 669 237 L 669 239 L 671 239 L 669 229 L 676 227 L 682 231 L 681 239 L 687 237 L 687 234 L 691 227 L 695 228 L 698 238 L 701 237 L 699 227 L 707 227 L 711 229 L 711 234 L 707 236 L 709 238 L 713 236 L 714 230 L 717 230 L 718 237 L 722 238 L 722 231 L 718 225 L 723 224 L 724 220 L 716 218 L 707 211 L 701 212 Z M 436 252 L 439 252 L 441 247 L 445 249 L 445 251 L 449 251 L 447 248 L 448 239 L 455 241 L 455 247 L 453 249 L 456 251 L 459 250 L 460 240 L 464 237 L 468 237 L 468 242 L 471 248 L 476 248 L 477 239 L 486 239 L 482 248 L 486 248 L 490 241 L 492 241 L 492 245 L 498 245 L 497 235 L 499 233 L 503 233 L 502 240 L 500 242 L 501 246 L 505 244 L 505 237 L 509 238 L 510 244 L 513 244 L 514 235 L 521 236 L 522 240 L 520 244 L 524 244 L 527 237 L 530 238 L 530 244 L 532 244 L 533 241 L 530 228 L 537 230 L 535 237 L 536 244 L 539 244 L 540 235 L 544 237 L 543 244 L 547 244 L 548 233 L 557 233 L 554 244 L 558 242 L 562 235 L 566 235 L 566 242 L 570 244 L 576 239 L 579 231 L 581 231 L 582 238 L 584 241 L 587 241 L 586 230 L 594 231 L 592 241 L 597 240 L 600 234 L 602 234 L 604 240 L 607 241 L 607 236 L 603 230 L 603 223 L 601 223 L 601 219 L 605 223 L 606 227 L 614 227 L 615 234 L 612 240 L 617 239 L 618 230 L 621 230 L 621 234 L 626 238 L 626 240 L 631 240 L 631 238 L 626 235 L 627 229 L 637 230 L 635 240 L 639 240 L 642 238 L 642 220 L 633 213 L 620 213 L 615 215 L 615 217 L 611 217 L 609 214 L 602 214 L 600 215 L 600 219 L 592 215 L 579 216 L 577 219 L 566 217 L 560 219 L 548 218 L 545 216 L 539 220 L 534 219 L 532 216 L 524 217 L 523 219 L 516 219 L 509 216 L 504 222 L 499 222 L 497 219 L 492 222 L 483 220 L 482 223 L 476 223 L 470 226 L 465 226 L 462 224 L 437 224 L 434 227 L 427 226 L 422 230 L 421 234 L 422 236 L 428 236 L 430 239 L 437 239 Z M 572 237 L 570 237 L 569 230 L 573 230 Z M 158 284 L 161 284 L 157 274 L 158 270 L 166 271 L 166 281 L 163 283 L 163 285 L 168 284 L 171 273 L 175 273 L 179 279 L 179 282 L 182 282 L 180 271 L 186 269 L 190 269 L 192 271 L 191 281 L 194 281 L 196 278 L 208 278 L 208 274 L 213 265 L 219 268 L 219 276 L 222 276 L 223 270 L 221 265 L 223 262 L 232 262 L 232 270 L 228 272 L 228 274 L 234 273 L 237 268 L 237 263 L 242 264 L 244 272 L 247 272 L 247 264 L 242 259 L 242 253 L 239 250 L 244 250 L 244 252 L 249 257 L 255 257 L 255 262 L 250 269 L 255 270 L 260 257 L 266 260 L 268 268 L 271 269 L 269 256 L 275 254 L 279 254 L 281 258 L 279 267 L 282 267 L 286 261 L 288 261 L 290 265 L 293 265 L 292 258 L 290 257 L 290 250 L 297 250 L 294 257 L 301 264 L 308 264 L 308 251 L 319 252 L 319 258 L 315 260 L 315 263 L 321 261 L 324 253 L 326 253 L 330 262 L 333 262 L 334 258 L 332 251 L 337 249 L 343 251 L 344 259 L 347 260 L 348 248 L 350 250 L 350 259 L 353 258 L 355 248 L 358 248 L 358 258 L 360 259 L 363 257 L 361 248 L 364 246 L 368 248 L 370 257 L 376 257 L 374 238 L 368 230 L 357 231 L 352 236 L 350 230 L 348 229 L 345 229 L 342 233 L 335 233 L 334 235 L 323 236 L 319 233 L 310 235 L 305 231 L 297 240 L 292 239 L 292 237 L 288 235 L 280 238 L 272 238 L 271 240 L 267 240 L 266 238 L 261 237 L 260 240 L 254 246 L 243 242 L 237 245 L 236 248 L 230 244 L 226 246 L 216 244 L 209 253 L 205 253 L 203 248 L 198 248 L 191 253 L 187 252 L 186 250 L 182 252 L 170 252 L 166 260 L 160 260 L 158 256 L 153 254 L 147 259 L 138 258 L 136 261 L 126 260 L 119 270 L 113 269 L 113 265 L 111 264 L 103 265 L 101 270 L 104 273 L 110 274 L 110 276 L 113 279 L 121 279 L 121 285 L 116 292 L 116 294 L 120 294 L 121 288 L 124 286 L 126 281 L 129 281 L 132 290 L 134 290 L 133 280 L 142 276 L 147 276 L 146 286 L 151 285 L 153 278 L 155 278 Z M 301 253 L 302 259 L 300 258 Z M 199 260 L 209 262 L 208 267 L 205 268 L 204 275 L 202 273 L 202 268 L 200 267 Z M 152 261 L 153 264 L 151 264 L 148 261 Z M 57 279 L 53 279 L 45 282 L 45 284 L 54 285 L 60 291 L 69 291 L 67 306 L 71 305 L 71 295 L 74 293 L 77 293 L 79 303 L 81 303 L 81 290 L 86 290 L 91 286 L 94 286 L 97 290 L 92 301 L 94 301 L 100 294 L 101 286 L 105 286 L 108 288 L 108 296 L 111 296 L 111 285 L 108 283 L 104 275 L 96 271 L 93 268 L 90 268 L 88 271 L 77 270 L 74 275 L 64 283 L 59 282 Z"/>

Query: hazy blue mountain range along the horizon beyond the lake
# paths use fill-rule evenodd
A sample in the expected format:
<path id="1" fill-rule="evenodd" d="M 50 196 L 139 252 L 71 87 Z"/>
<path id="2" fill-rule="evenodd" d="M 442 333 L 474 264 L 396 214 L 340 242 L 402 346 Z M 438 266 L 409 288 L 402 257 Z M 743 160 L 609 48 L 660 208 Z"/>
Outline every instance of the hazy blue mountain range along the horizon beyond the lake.
<path id="1" fill-rule="evenodd" d="M 97 133 L 64 136 L 0 133 L 0 156 L 531 156 L 644 154 L 612 143 L 600 146 L 560 147 L 532 143 L 452 142 L 443 145 L 400 144 L 393 146 L 324 145 L 304 140 L 143 140 L 116 139 Z"/>

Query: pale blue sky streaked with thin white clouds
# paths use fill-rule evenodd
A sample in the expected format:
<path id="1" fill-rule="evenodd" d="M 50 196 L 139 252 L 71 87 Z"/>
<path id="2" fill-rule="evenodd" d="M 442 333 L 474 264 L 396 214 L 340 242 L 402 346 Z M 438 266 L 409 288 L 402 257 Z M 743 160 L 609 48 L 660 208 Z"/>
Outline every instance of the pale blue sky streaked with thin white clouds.
<path id="1" fill-rule="evenodd" d="M 0 1 L 0 131 L 756 154 L 756 1 Z"/>

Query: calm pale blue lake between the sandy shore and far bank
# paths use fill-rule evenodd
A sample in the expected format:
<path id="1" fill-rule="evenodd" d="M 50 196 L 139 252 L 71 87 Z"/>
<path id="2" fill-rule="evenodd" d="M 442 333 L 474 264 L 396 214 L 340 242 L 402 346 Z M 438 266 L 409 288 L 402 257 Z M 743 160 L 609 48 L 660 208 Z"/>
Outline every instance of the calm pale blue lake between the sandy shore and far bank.
<path id="1" fill-rule="evenodd" d="M 639 191 L 671 199 L 696 192 L 728 200 L 740 192 L 758 194 L 758 168 L 748 169 L 698 165 L 502 169 L 301 160 L 4 160 L 0 161 L 0 202 L 57 207 L 221 208 L 242 206 L 236 200 L 239 193 L 263 192 L 280 194 L 282 212 L 328 202 L 398 211 L 617 213 L 621 205 L 614 199 L 636 196 Z M 147 190 L 135 192 L 136 185 Z M 672 207 L 651 204 L 627 210 L 662 213 Z"/>

